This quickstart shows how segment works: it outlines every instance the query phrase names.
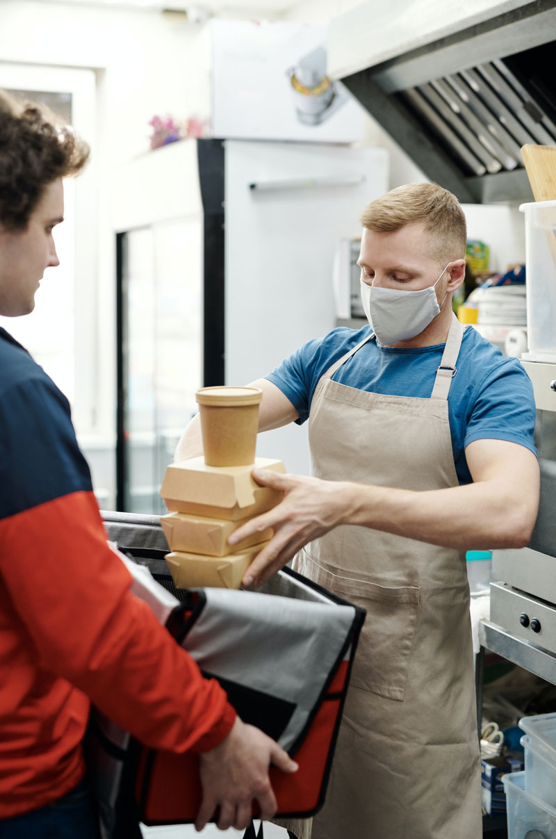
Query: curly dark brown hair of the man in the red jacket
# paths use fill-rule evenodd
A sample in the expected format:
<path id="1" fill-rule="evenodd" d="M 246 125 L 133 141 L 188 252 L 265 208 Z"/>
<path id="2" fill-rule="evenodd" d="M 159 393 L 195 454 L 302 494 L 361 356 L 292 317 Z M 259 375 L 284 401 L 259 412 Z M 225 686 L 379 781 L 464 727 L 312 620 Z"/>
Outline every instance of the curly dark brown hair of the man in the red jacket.
<path id="1" fill-rule="evenodd" d="M 49 108 L 0 90 L 0 224 L 24 230 L 44 188 L 77 175 L 89 146 Z"/>

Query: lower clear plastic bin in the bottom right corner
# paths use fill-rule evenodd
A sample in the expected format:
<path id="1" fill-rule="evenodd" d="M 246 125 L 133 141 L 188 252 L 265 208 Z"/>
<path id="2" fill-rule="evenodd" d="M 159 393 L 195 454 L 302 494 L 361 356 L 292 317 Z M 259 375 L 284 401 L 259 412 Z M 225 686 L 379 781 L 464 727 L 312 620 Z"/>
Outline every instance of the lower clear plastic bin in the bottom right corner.
<path id="1" fill-rule="evenodd" d="M 507 839 L 556 839 L 556 810 L 527 792 L 526 772 L 509 772 L 502 778 L 506 793 Z"/>

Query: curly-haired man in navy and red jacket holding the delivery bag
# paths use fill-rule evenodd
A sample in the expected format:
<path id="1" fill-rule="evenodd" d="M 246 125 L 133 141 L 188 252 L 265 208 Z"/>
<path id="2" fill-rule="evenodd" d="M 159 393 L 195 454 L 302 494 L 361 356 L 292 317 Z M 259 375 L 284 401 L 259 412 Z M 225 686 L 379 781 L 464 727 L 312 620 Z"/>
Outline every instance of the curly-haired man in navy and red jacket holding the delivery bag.
<path id="1" fill-rule="evenodd" d="M 59 264 L 62 177 L 87 154 L 51 115 L 0 91 L 0 314 L 29 314 L 44 268 Z M 253 799 L 273 816 L 269 763 L 296 764 L 236 717 L 130 585 L 67 399 L 0 328 L 2 839 L 96 836 L 81 748 L 90 701 L 153 748 L 200 753 L 198 830 L 217 807 L 218 826 L 244 828 Z"/>

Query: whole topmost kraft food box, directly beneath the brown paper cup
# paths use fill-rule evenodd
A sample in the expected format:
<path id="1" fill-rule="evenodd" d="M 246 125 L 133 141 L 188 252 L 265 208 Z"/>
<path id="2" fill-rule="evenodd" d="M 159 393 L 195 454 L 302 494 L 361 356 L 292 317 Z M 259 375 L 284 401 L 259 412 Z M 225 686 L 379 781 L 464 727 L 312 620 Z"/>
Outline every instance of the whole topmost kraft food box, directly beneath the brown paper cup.
<path id="1" fill-rule="evenodd" d="M 192 457 L 166 467 L 160 494 L 169 512 L 190 513 L 214 519 L 252 519 L 280 503 L 283 493 L 259 487 L 252 468 L 286 472 L 282 461 L 257 457 L 247 466 L 207 466 L 205 458 Z"/>

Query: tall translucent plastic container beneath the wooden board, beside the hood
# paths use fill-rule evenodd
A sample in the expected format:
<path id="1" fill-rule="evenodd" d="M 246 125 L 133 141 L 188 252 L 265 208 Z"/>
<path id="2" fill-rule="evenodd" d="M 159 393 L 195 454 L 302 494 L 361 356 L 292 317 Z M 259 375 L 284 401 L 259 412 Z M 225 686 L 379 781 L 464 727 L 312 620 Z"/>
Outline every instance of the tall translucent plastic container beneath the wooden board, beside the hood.
<path id="1" fill-rule="evenodd" d="M 556 201 L 522 204 L 525 213 L 527 343 L 522 358 L 556 362 Z"/>

